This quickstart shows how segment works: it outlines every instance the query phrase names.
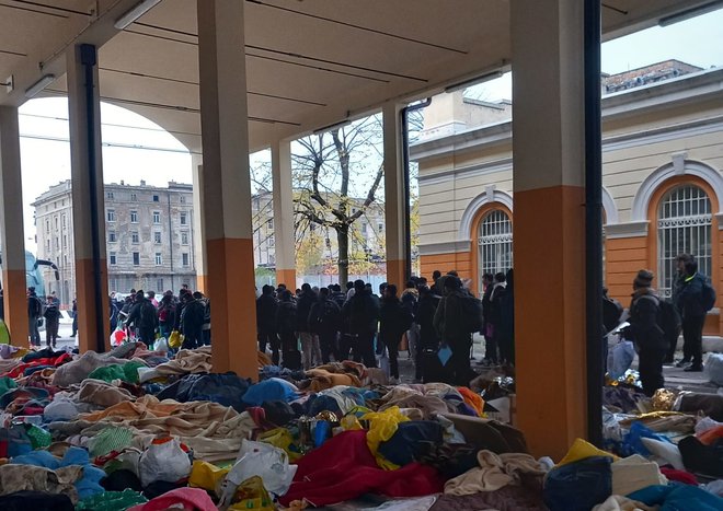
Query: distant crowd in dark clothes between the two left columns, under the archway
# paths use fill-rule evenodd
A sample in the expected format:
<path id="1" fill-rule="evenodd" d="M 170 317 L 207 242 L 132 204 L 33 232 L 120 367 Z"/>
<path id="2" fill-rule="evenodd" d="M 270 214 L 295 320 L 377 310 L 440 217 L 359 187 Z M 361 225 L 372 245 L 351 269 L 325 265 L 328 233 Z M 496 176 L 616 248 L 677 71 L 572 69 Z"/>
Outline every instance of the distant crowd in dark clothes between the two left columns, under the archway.
<path id="1" fill-rule="evenodd" d="M 209 346 L 210 300 L 200 291 L 184 286 L 179 295 L 165 291 L 158 301 L 156 292 L 130 290 L 124 299 L 111 293 L 111 329 L 125 328 L 136 340 L 153 347 L 156 339 L 169 338 L 173 332 L 183 335 L 183 349 Z"/>

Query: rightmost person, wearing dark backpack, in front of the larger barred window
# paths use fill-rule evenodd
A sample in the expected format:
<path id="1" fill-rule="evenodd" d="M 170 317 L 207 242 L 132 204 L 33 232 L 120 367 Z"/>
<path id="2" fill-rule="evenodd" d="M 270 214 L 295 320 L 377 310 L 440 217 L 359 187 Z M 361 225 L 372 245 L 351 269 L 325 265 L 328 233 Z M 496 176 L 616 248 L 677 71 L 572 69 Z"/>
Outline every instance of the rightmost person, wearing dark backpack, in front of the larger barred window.
<path id="1" fill-rule="evenodd" d="M 703 370 L 703 325 L 705 314 L 715 304 L 715 290 L 708 284 L 705 276 L 698 272 L 698 262 L 690 254 L 676 258 L 679 278 L 679 292 L 676 306 L 682 316 L 682 360 L 676 367 L 685 371 Z"/>

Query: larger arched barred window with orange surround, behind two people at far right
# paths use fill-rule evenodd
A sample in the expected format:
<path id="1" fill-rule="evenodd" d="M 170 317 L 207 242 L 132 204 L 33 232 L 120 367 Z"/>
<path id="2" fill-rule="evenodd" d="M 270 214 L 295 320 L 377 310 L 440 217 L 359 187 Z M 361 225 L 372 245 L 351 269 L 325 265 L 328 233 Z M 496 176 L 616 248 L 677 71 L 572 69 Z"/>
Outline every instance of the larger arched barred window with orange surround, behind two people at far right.
<path id="1" fill-rule="evenodd" d="M 670 297 L 676 275 L 675 258 L 692 254 L 698 268 L 711 275 L 711 201 L 695 185 L 673 188 L 663 196 L 657 211 L 658 291 Z"/>

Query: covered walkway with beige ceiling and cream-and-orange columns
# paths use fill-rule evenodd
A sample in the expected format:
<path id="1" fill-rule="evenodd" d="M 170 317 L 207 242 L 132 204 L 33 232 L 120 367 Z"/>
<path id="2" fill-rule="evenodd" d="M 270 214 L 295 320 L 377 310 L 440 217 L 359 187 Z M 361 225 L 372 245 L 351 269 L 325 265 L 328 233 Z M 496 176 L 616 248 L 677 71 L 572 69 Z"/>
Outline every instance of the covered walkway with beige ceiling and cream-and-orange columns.
<path id="1" fill-rule="evenodd" d="M 587 437 L 588 427 L 599 431 L 599 413 L 588 414 L 599 403 L 587 390 L 597 387 L 601 374 L 585 363 L 601 368 L 585 342 L 586 332 L 599 332 L 599 320 L 586 323 L 584 307 L 586 292 L 599 297 L 601 286 L 599 249 L 585 257 L 584 208 L 587 202 L 587 235 L 599 241 L 601 206 L 590 202 L 595 195 L 586 199 L 584 173 L 587 163 L 599 174 L 599 4 L 100 0 L 89 9 L 89 3 L 0 5 L 0 77 L 7 77 L 0 92 L 0 231 L 5 317 L 15 339 L 27 333 L 18 107 L 28 98 L 69 100 L 78 306 L 85 312 L 81 348 L 103 350 L 108 338 L 102 100 L 152 119 L 194 154 L 194 202 L 203 211 L 195 225 L 203 240 L 198 287 L 214 303 L 214 369 L 255 378 L 248 154 L 272 149 L 277 271 L 279 281 L 291 281 L 290 141 L 381 111 L 388 280 L 401 284 L 408 219 L 400 112 L 512 66 L 519 426 L 533 453 L 555 456 L 574 438 Z M 605 1 L 602 37 L 673 21 L 710 3 Z M 592 8 L 587 24 L 583 5 Z M 593 185 L 599 188 L 599 182 Z M 548 249 L 540 253 L 538 246 Z M 586 274 L 586 262 L 597 275 Z M 234 326 L 239 316 L 249 318 L 248 328 Z M 544 350 L 540 336 L 548 340 Z"/>

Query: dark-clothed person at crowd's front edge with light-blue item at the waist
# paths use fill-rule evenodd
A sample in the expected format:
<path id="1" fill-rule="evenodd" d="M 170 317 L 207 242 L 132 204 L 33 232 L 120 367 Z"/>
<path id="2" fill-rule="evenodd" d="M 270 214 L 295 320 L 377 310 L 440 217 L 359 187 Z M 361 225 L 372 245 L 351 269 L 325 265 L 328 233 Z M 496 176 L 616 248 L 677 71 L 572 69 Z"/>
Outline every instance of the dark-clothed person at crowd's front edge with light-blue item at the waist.
<path id="1" fill-rule="evenodd" d="M 444 281 L 445 294 L 434 315 L 434 327 L 441 341 L 451 349 L 447 361 L 450 382 L 454 385 L 469 385 L 472 370 L 470 368 L 470 349 L 472 335 L 463 327 L 462 300 L 468 298 L 462 290 L 462 282 L 455 276 L 447 276 Z"/>

